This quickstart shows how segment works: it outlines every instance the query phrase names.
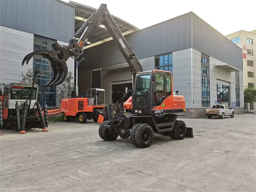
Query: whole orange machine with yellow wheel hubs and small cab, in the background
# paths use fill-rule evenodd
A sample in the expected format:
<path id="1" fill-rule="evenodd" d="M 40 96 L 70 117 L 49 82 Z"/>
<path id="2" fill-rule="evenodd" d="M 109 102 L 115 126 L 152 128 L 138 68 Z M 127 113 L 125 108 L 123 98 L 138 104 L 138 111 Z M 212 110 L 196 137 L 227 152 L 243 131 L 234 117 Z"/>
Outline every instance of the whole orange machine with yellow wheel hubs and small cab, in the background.
<path id="1" fill-rule="evenodd" d="M 104 103 L 100 95 L 104 95 Z M 87 119 L 98 122 L 99 114 L 105 109 L 105 90 L 92 88 L 87 89 L 86 98 L 68 98 L 61 100 L 61 113 L 63 120 L 68 122 L 70 118 L 77 118 L 79 123 L 86 123 Z"/>

